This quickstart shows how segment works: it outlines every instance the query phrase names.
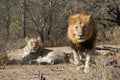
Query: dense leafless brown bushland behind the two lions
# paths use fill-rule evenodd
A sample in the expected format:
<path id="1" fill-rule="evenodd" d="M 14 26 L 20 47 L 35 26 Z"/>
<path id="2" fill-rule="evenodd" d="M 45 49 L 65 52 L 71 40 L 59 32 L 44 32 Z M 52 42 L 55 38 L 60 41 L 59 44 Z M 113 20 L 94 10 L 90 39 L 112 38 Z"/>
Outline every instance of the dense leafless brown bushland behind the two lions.
<path id="1" fill-rule="evenodd" d="M 69 45 L 68 18 L 81 11 L 97 23 L 97 44 L 120 44 L 120 0 L 0 0 L 0 51 L 22 48 L 26 36 Z"/>

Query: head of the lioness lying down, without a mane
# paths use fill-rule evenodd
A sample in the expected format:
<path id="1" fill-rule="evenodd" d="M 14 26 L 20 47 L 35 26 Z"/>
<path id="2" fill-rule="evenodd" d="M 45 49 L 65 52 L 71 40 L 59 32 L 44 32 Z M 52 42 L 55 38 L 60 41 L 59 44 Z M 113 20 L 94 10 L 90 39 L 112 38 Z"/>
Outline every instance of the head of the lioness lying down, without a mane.
<path id="1" fill-rule="evenodd" d="M 25 38 L 25 41 L 27 42 L 27 45 L 29 47 L 29 49 L 31 50 L 31 52 L 36 52 L 38 50 L 38 48 L 41 46 L 40 42 L 41 42 L 41 38 Z"/>

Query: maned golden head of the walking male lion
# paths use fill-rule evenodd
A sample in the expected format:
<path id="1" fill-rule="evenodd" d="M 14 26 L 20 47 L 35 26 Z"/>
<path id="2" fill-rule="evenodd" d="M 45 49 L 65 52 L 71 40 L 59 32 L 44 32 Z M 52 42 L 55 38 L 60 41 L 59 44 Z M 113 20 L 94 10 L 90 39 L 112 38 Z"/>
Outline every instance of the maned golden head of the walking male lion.
<path id="1" fill-rule="evenodd" d="M 68 36 L 75 42 L 84 42 L 93 35 L 94 25 L 87 12 L 69 18 Z"/>

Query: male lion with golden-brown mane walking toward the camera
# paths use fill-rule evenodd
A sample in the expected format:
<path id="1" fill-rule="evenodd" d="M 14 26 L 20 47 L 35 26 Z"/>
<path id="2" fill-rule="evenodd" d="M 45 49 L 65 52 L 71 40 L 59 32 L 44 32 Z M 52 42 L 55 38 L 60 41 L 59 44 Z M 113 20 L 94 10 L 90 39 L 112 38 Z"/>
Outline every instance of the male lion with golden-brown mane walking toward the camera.
<path id="1" fill-rule="evenodd" d="M 80 65 L 86 57 L 84 72 L 89 70 L 89 62 L 95 53 L 96 25 L 88 12 L 75 14 L 69 18 L 68 39 L 73 48 L 74 64 Z"/>

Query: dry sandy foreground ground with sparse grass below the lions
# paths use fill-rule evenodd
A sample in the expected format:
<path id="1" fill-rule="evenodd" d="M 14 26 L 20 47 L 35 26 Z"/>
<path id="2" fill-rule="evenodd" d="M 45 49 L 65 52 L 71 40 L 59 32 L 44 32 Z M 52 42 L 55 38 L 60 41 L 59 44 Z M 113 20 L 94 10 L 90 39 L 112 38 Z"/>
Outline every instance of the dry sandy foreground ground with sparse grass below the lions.
<path id="1" fill-rule="evenodd" d="M 12 64 L 0 66 L 0 80 L 41 80 L 40 74 L 46 80 L 120 80 L 120 52 L 110 50 L 98 52 L 101 53 L 96 55 L 96 66 L 90 66 L 90 72 L 87 74 L 77 70 L 71 63 Z"/>

